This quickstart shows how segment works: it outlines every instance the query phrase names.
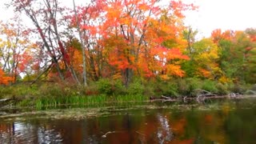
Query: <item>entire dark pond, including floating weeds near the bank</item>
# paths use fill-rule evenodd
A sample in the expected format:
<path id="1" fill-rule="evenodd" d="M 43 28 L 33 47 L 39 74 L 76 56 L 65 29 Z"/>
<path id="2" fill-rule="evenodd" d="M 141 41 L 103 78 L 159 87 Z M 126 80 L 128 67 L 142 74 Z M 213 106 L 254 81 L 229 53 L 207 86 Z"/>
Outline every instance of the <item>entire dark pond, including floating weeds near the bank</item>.
<path id="1" fill-rule="evenodd" d="M 253 98 L 31 112 L 0 117 L 0 143 L 256 143 L 255 104 Z"/>

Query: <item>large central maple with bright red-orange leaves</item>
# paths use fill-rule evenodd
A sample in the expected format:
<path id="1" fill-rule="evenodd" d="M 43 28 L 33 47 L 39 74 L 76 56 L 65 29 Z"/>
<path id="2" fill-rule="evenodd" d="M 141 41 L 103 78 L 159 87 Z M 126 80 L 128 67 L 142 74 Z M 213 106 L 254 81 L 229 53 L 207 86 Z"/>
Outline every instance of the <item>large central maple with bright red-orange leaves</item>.
<path id="1" fill-rule="evenodd" d="M 105 70 L 121 75 L 126 85 L 135 74 L 152 77 L 163 70 L 169 76 L 184 74 L 178 63 L 178 59 L 188 59 L 179 45 L 182 12 L 194 6 L 181 1 L 161 6 L 156 0 L 100 1 L 98 5 L 102 7 L 99 15 L 105 18 L 98 25 L 98 35 L 111 67 Z"/>

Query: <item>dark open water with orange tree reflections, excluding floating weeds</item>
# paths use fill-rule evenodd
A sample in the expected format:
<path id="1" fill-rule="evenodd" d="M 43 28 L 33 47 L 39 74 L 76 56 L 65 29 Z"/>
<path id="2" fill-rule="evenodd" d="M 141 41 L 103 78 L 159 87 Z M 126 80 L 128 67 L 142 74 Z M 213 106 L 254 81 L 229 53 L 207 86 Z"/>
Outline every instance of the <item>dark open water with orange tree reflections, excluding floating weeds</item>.
<path id="1" fill-rule="evenodd" d="M 138 110 L 80 121 L 1 122 L 0 143 L 254 142 L 255 110 L 227 109 Z"/>

